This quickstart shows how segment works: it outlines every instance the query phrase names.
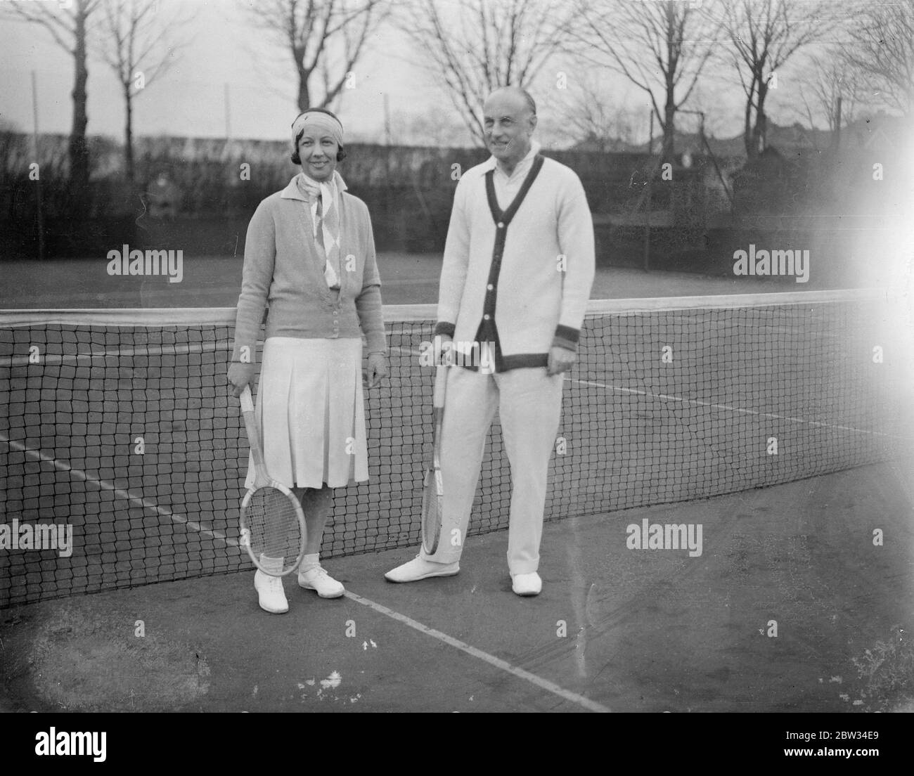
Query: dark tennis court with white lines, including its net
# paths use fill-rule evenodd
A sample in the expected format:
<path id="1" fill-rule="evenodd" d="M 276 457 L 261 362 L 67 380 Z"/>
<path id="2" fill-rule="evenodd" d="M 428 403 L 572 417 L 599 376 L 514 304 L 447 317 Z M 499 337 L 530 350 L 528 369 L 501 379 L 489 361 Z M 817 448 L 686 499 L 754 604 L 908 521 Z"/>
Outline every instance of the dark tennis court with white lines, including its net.
<path id="1" fill-rule="evenodd" d="M 391 376 L 367 395 L 371 483 L 337 491 L 324 537 L 350 594 L 296 590 L 290 613 L 269 619 L 238 547 L 247 448 L 224 386 L 232 311 L 5 314 L 0 522 L 69 523 L 74 536 L 67 558 L 0 555 L 11 654 L 60 680 L 7 663 L 16 703 L 853 708 L 833 677 L 850 680 L 856 643 L 864 655 L 910 623 L 901 591 L 914 590 L 911 382 L 884 293 L 592 303 L 535 601 L 516 599 L 503 568 L 510 473 L 497 427 L 471 524 L 486 536 L 461 574 L 383 582 L 419 542 L 433 370 L 418 353 L 434 311 L 385 313 Z M 632 550 L 626 526 L 643 520 L 700 524 L 703 550 Z M 875 547 L 874 527 L 892 541 Z M 753 640 L 771 620 L 784 630 Z M 252 636 L 264 628 L 269 671 Z"/>

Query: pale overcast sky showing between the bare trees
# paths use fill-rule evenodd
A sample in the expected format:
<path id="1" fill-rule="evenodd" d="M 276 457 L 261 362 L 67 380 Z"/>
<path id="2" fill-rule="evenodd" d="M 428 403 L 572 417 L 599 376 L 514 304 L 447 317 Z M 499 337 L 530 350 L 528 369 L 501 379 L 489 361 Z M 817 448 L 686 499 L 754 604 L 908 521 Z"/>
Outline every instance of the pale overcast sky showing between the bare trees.
<path id="1" fill-rule="evenodd" d="M 25 2 L 25 0 L 14 0 Z M 36 0 L 32 0 L 35 2 Z M 40 0 L 39 0 L 40 1 Z M 54 7 L 69 0 L 45 0 Z M 191 14 L 180 37 L 190 41 L 181 58 L 134 101 L 134 134 L 197 137 L 284 139 L 295 105 L 296 76 L 289 55 L 268 34 L 250 26 L 243 5 L 256 0 L 159 0 L 163 18 Z M 457 0 L 454 0 L 457 2 Z M 0 9 L 6 2 L 0 2 Z M 402 128 L 416 118 L 426 124 L 460 122 L 445 92 L 416 64 L 409 38 L 392 25 L 383 27 L 356 66 L 353 89 L 344 90 L 337 112 L 353 141 L 383 142 L 385 97 L 391 116 L 391 142 L 420 142 Z M 567 146 L 576 138 L 559 118 L 560 108 L 550 80 L 566 69 L 572 77 L 595 80 L 605 100 L 630 112 L 638 140 L 646 140 L 648 102 L 639 90 L 605 70 L 579 68 L 557 59 L 544 70 L 535 96 L 540 104 L 540 134 L 544 144 Z M 69 133 L 73 65 L 67 52 L 43 28 L 0 20 L 0 119 L 20 131 L 32 129 L 31 73 L 37 78 L 39 132 Z M 117 80 L 97 57 L 89 63 L 90 134 L 122 137 L 124 106 Z M 788 90 L 783 90 L 790 93 Z M 795 94 L 795 92 L 794 92 Z M 703 81 L 696 94 L 701 107 L 715 112 L 710 133 L 733 136 L 741 130 L 742 95 L 735 82 Z M 793 122 L 796 112 L 779 105 L 771 93 L 769 109 L 775 121 Z M 550 115 L 551 109 L 551 115 Z M 694 130 L 694 127 L 689 127 Z M 469 141 L 469 136 L 466 136 Z M 469 143 L 467 143 L 469 144 Z"/>

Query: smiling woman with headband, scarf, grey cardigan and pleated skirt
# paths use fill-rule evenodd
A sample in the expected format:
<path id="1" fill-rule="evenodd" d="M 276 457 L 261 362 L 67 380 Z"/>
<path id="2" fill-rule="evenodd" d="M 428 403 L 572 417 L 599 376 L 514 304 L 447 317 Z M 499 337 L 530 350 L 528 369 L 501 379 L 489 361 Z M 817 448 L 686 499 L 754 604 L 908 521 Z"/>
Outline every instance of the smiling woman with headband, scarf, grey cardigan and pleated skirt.
<path id="1" fill-rule="evenodd" d="M 240 396 L 253 380 L 269 303 L 256 409 L 264 460 L 304 510 L 299 585 L 338 598 L 345 590 L 321 568 L 321 537 L 332 489 L 368 479 L 361 335 L 368 388 L 387 375 L 387 345 L 368 208 L 336 172 L 343 125 L 324 109 L 305 111 L 292 122 L 292 146 L 302 172 L 250 219 L 228 382 Z M 249 487 L 253 479 L 251 461 Z M 289 611 L 281 578 L 258 569 L 254 587 L 261 609 Z"/>

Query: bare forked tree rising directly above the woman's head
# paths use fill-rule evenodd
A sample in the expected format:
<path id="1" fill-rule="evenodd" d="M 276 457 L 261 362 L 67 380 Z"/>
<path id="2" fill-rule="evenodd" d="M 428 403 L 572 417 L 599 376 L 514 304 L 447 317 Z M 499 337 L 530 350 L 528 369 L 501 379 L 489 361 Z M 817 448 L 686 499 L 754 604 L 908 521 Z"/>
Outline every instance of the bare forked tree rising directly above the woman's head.
<path id="1" fill-rule="evenodd" d="M 389 13 L 386 0 L 262 0 L 247 8 L 253 26 L 292 57 L 299 111 L 333 104 Z"/>

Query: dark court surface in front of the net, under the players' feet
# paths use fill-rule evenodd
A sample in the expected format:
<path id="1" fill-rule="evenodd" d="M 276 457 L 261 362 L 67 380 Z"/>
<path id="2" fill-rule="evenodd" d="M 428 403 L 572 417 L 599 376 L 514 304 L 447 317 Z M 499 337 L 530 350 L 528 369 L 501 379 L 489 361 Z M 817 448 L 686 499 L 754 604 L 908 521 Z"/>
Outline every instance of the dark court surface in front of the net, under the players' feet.
<path id="1" fill-rule="evenodd" d="M 0 613 L 6 703 L 251 712 L 900 709 L 910 698 L 867 671 L 897 635 L 893 626 L 914 620 L 906 466 L 548 523 L 544 590 L 534 599 L 511 592 L 506 536 L 496 532 L 472 537 L 461 573 L 449 579 L 384 581 L 383 571 L 411 550 L 329 561 L 348 597 L 322 601 L 287 579 L 284 615 L 258 609 L 250 571 L 8 609 Z M 626 548 L 626 526 L 644 518 L 701 523 L 702 555 Z M 877 527 L 883 547 L 872 541 Z M 135 635 L 138 621 L 143 636 Z"/>

